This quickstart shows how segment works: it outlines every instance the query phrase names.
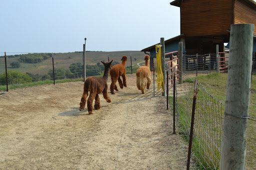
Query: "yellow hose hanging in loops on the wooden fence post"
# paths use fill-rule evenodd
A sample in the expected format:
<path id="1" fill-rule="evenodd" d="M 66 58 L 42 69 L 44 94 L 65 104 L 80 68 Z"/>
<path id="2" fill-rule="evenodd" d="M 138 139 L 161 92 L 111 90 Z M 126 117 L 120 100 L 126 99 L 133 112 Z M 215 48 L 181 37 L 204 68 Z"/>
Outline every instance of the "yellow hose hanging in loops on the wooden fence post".
<path id="1" fill-rule="evenodd" d="M 155 81 L 157 82 L 157 91 L 162 89 L 164 92 L 164 82 L 163 82 L 163 74 L 162 74 L 162 65 L 161 65 L 161 46 L 155 45 L 155 53 L 156 53 L 156 74 Z"/>

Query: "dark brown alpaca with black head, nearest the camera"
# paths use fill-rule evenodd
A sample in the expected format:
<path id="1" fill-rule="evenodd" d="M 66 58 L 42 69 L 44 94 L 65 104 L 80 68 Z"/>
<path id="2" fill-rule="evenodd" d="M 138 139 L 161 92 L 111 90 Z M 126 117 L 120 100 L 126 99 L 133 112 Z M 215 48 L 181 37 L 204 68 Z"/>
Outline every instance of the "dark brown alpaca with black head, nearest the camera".
<path id="1" fill-rule="evenodd" d="M 113 61 L 113 60 L 112 60 Z M 98 94 L 103 93 L 103 97 L 106 100 L 106 102 L 111 103 L 111 99 L 108 97 L 107 94 L 107 78 L 108 78 L 108 73 L 109 70 L 111 69 L 111 63 L 110 62 L 103 62 L 104 64 L 104 74 L 103 77 L 89 77 L 85 80 L 84 85 L 83 85 L 83 94 L 80 102 L 80 108 L 79 111 L 82 111 L 85 107 L 86 104 L 86 98 L 88 96 L 88 91 L 90 92 L 90 95 L 88 97 L 87 101 L 87 109 L 89 114 L 92 114 L 92 102 L 93 99 L 95 98 L 94 102 L 94 109 L 98 110 L 100 109 L 100 103 L 99 103 L 99 97 Z"/>

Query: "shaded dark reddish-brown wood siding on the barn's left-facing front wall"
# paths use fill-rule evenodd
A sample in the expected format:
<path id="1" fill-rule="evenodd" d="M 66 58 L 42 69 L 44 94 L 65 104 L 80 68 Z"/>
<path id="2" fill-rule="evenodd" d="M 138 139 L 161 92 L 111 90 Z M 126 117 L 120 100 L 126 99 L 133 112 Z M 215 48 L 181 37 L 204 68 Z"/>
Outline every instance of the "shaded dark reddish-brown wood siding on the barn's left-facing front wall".
<path id="1" fill-rule="evenodd" d="M 183 0 L 180 33 L 186 37 L 227 35 L 232 23 L 232 0 Z"/>

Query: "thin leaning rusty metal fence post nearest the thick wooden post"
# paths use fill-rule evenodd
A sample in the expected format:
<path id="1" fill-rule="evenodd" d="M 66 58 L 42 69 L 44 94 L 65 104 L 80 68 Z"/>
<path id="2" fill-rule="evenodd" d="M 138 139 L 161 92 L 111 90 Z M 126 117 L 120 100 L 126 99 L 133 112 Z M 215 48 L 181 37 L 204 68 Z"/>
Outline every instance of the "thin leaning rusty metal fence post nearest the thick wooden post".
<path id="1" fill-rule="evenodd" d="M 191 115 L 191 125 L 190 125 L 190 135 L 189 135 L 189 146 L 188 146 L 186 170 L 189 170 L 189 166 L 190 166 L 192 140 L 193 140 L 193 129 L 194 129 L 195 102 L 196 102 L 197 84 L 198 84 L 197 82 L 198 82 L 198 79 L 195 79 L 194 80 L 194 95 L 193 95 L 193 105 L 192 105 L 192 115 Z"/>

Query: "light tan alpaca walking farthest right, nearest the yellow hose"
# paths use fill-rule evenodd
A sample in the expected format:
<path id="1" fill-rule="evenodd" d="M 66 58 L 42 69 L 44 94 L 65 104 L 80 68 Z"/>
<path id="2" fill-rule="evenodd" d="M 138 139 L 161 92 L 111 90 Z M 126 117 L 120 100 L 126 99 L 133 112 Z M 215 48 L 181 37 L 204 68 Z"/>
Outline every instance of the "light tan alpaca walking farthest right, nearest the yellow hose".
<path id="1" fill-rule="evenodd" d="M 144 57 L 145 60 L 145 66 L 140 66 L 138 67 L 137 71 L 136 71 L 136 84 L 137 84 L 137 88 L 138 90 L 141 90 L 142 94 L 144 94 L 144 88 L 146 87 L 146 89 L 149 89 L 150 83 L 151 83 L 151 72 L 149 69 L 149 60 L 150 57 L 148 55 L 146 55 Z M 145 81 L 147 80 L 147 83 L 145 84 Z"/>

